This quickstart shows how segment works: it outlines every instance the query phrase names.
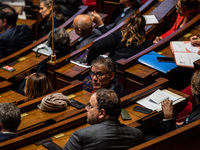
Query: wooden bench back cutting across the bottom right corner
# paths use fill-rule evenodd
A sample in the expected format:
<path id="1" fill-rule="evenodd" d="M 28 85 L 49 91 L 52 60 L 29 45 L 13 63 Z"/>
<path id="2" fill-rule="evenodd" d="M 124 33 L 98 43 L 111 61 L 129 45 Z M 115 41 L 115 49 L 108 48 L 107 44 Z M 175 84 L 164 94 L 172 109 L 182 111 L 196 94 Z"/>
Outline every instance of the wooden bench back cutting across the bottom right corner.
<path id="1" fill-rule="evenodd" d="M 198 149 L 200 140 L 200 120 L 142 143 L 131 150 L 175 150 Z"/>

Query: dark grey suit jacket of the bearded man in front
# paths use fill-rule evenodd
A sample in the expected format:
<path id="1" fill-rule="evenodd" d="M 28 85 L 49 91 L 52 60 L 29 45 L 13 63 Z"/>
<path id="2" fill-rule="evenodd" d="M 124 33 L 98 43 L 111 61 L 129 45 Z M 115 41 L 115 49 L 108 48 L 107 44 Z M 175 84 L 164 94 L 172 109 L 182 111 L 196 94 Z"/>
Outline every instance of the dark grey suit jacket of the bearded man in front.
<path id="1" fill-rule="evenodd" d="M 142 139 L 139 129 L 105 120 L 101 123 L 75 131 L 63 150 L 123 150 L 137 145 Z"/>

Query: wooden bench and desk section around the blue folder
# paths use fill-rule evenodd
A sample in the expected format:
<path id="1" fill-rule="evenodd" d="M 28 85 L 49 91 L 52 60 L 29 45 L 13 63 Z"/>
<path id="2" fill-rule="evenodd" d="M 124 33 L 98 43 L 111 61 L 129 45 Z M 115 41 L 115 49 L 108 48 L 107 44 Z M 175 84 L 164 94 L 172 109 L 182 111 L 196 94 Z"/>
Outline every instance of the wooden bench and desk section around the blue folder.
<path id="1" fill-rule="evenodd" d="M 172 57 L 173 55 L 169 48 L 169 42 L 171 40 L 177 40 L 187 32 L 191 32 L 193 35 L 198 35 L 198 30 L 194 28 L 196 25 L 199 24 L 199 22 L 200 22 L 200 15 L 196 16 L 185 26 L 175 31 L 162 41 L 145 49 L 144 51 L 128 59 L 118 60 L 117 61 L 118 81 L 121 84 L 124 84 L 126 89 L 130 89 L 129 86 L 130 87 L 136 86 L 138 88 L 142 88 L 146 86 L 146 84 L 148 84 L 149 82 L 154 81 L 155 78 L 158 78 L 159 76 L 163 75 L 155 69 L 137 63 L 137 59 L 150 51 L 158 51 L 159 53 L 162 53 L 162 55 L 164 56 Z M 189 38 L 185 38 L 184 40 L 189 40 Z M 133 91 L 128 91 L 128 92 L 133 92 Z"/>

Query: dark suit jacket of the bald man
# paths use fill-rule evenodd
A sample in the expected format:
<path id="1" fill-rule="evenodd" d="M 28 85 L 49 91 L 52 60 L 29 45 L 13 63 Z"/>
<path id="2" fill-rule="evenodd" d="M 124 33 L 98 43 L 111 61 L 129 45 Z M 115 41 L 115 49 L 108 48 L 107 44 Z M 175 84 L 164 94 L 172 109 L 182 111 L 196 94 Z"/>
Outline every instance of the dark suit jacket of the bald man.
<path id="1" fill-rule="evenodd" d="M 90 34 L 88 34 L 87 36 L 85 36 L 79 40 L 79 45 L 77 45 L 77 49 L 89 44 L 90 42 L 94 41 L 101 35 L 102 35 L 102 33 L 99 30 L 93 29 Z"/>

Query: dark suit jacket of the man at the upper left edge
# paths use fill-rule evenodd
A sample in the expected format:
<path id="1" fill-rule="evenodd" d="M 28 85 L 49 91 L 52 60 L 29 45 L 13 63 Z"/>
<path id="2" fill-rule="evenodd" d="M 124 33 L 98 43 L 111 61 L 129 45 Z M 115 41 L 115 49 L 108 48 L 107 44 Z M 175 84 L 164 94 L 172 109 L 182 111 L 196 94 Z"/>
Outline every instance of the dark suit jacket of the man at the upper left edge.
<path id="1" fill-rule="evenodd" d="M 0 58 L 6 57 L 33 42 L 33 34 L 27 25 L 18 25 L 0 33 Z"/>

